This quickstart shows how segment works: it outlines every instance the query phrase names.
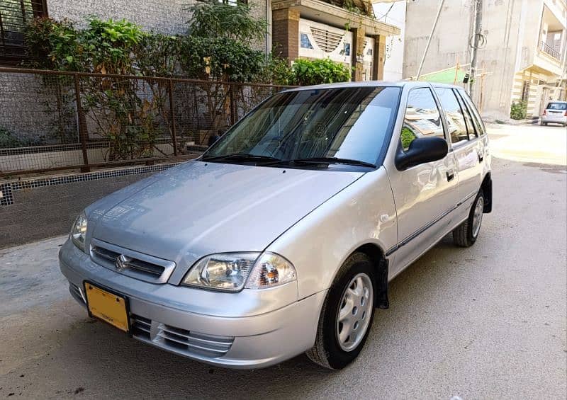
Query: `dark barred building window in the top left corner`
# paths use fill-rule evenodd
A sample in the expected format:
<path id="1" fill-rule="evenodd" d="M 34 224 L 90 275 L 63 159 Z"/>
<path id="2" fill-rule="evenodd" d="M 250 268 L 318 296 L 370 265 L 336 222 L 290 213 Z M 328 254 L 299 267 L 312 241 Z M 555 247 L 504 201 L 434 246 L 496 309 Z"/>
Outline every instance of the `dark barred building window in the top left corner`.
<path id="1" fill-rule="evenodd" d="M 45 0 L 0 1 L 0 63 L 17 64 L 26 57 L 24 27 L 41 16 L 47 16 Z"/>

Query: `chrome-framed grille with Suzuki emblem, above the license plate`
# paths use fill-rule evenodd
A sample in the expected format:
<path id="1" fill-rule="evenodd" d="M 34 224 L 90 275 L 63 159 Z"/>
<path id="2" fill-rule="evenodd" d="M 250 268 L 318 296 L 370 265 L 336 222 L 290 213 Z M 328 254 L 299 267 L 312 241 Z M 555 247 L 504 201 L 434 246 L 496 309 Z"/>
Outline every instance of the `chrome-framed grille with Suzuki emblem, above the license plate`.
<path id="1" fill-rule="evenodd" d="M 123 262 L 119 263 L 118 258 L 121 256 Z M 97 239 L 93 239 L 91 243 L 91 258 L 103 267 L 153 283 L 167 282 L 175 268 L 172 261 L 120 248 Z"/>

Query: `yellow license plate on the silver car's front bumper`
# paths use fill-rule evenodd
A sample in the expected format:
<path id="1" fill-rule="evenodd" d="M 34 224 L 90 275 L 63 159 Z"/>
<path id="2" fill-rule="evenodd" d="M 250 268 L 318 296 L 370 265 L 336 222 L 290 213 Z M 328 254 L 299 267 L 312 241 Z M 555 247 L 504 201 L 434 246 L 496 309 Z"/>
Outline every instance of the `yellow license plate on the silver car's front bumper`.
<path id="1" fill-rule="evenodd" d="M 125 297 L 103 290 L 90 282 L 84 282 L 84 292 L 89 314 L 122 331 L 129 331 L 130 321 Z"/>

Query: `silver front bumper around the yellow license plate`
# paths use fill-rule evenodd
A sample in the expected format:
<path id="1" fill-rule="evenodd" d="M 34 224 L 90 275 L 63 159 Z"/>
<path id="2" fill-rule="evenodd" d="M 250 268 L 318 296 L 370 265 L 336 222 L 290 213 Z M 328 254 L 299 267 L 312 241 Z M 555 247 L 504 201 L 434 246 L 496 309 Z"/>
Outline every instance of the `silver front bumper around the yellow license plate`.
<path id="1" fill-rule="evenodd" d="M 173 306 L 164 304 L 163 297 L 156 297 L 157 290 L 129 290 L 130 281 L 132 287 L 150 285 L 147 289 L 167 285 L 168 292 L 184 287 L 140 283 L 94 263 L 69 241 L 60 251 L 60 268 L 69 280 L 72 296 L 84 307 L 84 280 L 128 297 L 132 333 L 137 340 L 220 367 L 267 367 L 311 348 L 326 295 L 326 291 L 319 292 L 262 314 L 218 316 L 190 312 L 187 310 L 190 304 L 179 307 L 178 299 L 171 299 Z M 238 302 L 240 294 L 228 295 Z M 249 300 L 249 295 L 243 298 Z M 219 313 L 230 307 L 231 304 L 220 302 Z"/>

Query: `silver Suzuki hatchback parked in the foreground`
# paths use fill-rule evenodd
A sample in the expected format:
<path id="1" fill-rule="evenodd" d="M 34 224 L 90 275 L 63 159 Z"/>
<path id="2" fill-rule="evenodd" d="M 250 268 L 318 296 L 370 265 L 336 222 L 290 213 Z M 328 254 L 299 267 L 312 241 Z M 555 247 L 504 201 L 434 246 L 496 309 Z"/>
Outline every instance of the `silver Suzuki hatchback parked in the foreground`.
<path id="1" fill-rule="evenodd" d="M 90 316 L 157 348 L 340 370 L 388 282 L 451 232 L 474 244 L 491 207 L 488 137 L 461 88 L 303 87 L 87 207 L 60 268 Z"/>

